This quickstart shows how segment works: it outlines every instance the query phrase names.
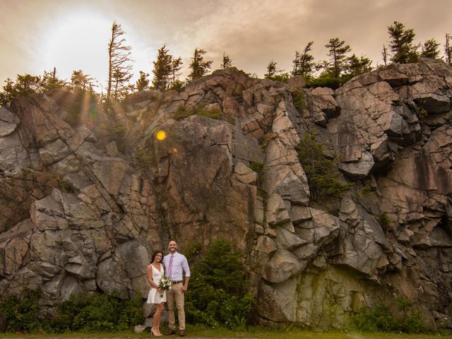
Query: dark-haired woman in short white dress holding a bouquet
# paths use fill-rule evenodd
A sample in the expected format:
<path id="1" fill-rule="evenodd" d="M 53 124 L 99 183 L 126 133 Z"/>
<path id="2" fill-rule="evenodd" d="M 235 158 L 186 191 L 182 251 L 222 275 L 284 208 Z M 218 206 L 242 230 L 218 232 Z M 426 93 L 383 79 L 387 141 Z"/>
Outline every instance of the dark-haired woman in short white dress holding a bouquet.
<path id="1" fill-rule="evenodd" d="M 150 283 L 148 304 L 155 304 L 153 327 L 150 328 L 150 333 L 156 337 L 162 335 L 162 333 L 160 333 L 160 316 L 162 315 L 163 304 L 167 302 L 167 292 L 162 290 L 158 285 L 165 274 L 165 266 L 161 263 L 162 258 L 163 252 L 155 251 L 152 261 L 146 270 Z"/>

